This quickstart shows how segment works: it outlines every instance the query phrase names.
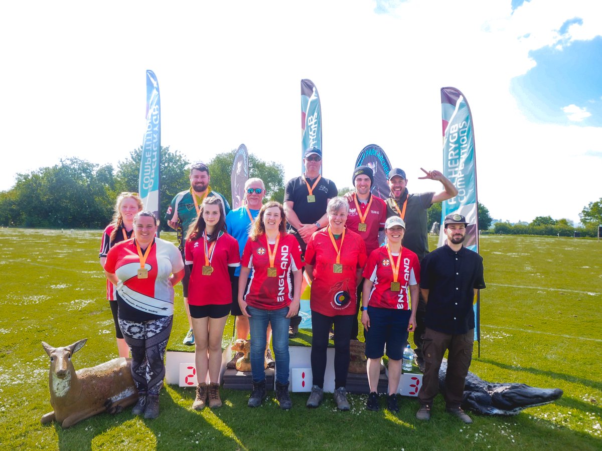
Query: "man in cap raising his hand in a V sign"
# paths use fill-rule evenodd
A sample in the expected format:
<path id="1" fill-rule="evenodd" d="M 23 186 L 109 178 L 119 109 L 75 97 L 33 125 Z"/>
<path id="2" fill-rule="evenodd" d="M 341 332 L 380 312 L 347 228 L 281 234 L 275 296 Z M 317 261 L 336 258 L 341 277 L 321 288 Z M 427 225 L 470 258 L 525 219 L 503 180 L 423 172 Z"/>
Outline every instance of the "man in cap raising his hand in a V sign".
<path id="1" fill-rule="evenodd" d="M 427 210 L 432 204 L 451 199 L 458 194 L 458 189 L 439 171 L 425 171 L 418 179 L 438 180 L 442 183 L 444 190 L 441 192 L 420 192 L 409 194 L 408 179 L 405 171 L 393 168 L 389 171 L 389 188 L 391 194 L 386 199 L 386 217 L 400 216 L 406 223 L 406 235 L 403 238 L 403 246 L 413 251 L 421 262 L 429 253 L 429 238 L 427 229 Z M 416 330 L 414 331 L 414 344 L 416 345 L 416 362 L 420 370 L 424 372 L 424 360 L 422 357 L 422 334 L 424 333 L 424 302 L 420 299 L 416 314 Z"/>

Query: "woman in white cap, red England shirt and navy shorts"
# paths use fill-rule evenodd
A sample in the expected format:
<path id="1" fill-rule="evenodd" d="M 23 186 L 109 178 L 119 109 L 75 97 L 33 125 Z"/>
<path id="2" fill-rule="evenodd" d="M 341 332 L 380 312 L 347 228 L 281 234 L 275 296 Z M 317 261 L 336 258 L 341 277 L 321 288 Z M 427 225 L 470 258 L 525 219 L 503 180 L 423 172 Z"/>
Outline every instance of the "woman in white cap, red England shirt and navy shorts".
<path id="1" fill-rule="evenodd" d="M 420 282 L 418 256 L 402 246 L 405 231 L 406 224 L 402 218 L 388 218 L 385 222 L 387 244 L 372 251 L 364 268 L 362 324 L 366 330 L 366 370 L 370 385 L 366 404 L 368 410 L 379 410 L 376 389 L 380 358 L 386 343 L 386 355 L 389 358 L 387 409 L 399 411 L 397 389 L 402 373 L 403 348 L 408 340 L 408 332 L 416 328 Z M 408 294 L 412 298 L 412 309 Z"/>

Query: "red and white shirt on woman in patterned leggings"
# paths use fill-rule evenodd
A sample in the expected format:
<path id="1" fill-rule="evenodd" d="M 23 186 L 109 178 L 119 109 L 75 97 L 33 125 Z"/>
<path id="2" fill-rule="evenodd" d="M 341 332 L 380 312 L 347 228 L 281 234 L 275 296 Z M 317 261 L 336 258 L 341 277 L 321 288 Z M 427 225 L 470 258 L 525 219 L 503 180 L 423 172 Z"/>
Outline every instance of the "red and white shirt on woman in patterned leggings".
<path id="1" fill-rule="evenodd" d="M 169 276 L 184 269 L 182 255 L 172 243 L 155 238 L 144 268 L 148 277 L 138 278 L 140 257 L 134 239 L 114 245 L 107 254 L 105 271 L 119 278 L 119 318 L 148 321 L 173 314 L 173 286 Z"/>

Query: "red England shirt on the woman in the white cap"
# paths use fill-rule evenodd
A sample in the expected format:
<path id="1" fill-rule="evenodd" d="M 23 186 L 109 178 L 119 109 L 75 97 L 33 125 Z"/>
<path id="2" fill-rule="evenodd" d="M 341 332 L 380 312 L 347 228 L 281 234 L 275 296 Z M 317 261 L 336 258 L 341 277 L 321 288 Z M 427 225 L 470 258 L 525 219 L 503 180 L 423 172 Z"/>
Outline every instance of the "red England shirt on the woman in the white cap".
<path id="1" fill-rule="evenodd" d="M 368 263 L 364 268 L 365 278 L 373 282 L 368 305 L 379 308 L 397 308 L 409 310 L 408 292 L 410 285 L 420 283 L 420 263 L 418 256 L 408 248 L 402 248 L 402 260 L 399 264 L 397 281 L 400 284 L 399 291 L 391 291 L 393 282 L 393 269 L 397 263 L 399 254 L 391 254 L 393 262 L 389 259 L 386 247 L 379 247 L 372 251 L 368 257 Z M 418 305 L 418 299 L 413 299 Z"/>

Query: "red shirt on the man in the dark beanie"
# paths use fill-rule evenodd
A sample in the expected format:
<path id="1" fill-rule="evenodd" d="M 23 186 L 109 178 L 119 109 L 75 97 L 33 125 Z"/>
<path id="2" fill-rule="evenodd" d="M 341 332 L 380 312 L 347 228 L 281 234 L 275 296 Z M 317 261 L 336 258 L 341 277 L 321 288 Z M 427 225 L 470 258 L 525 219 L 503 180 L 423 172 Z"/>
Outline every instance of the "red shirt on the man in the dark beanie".
<path id="1" fill-rule="evenodd" d="M 361 203 L 358 200 L 362 215 L 365 215 L 368 210 L 368 215 L 365 218 L 366 231 L 360 232 L 358 230 L 358 225 L 361 221 L 359 219 L 358 209 L 355 206 L 355 195 L 355 192 L 350 192 L 345 195 L 347 202 L 349 202 L 349 213 L 347 214 L 347 222 L 345 222 L 345 225 L 347 230 L 358 233 L 358 235 L 364 239 L 366 253 L 370 255 L 374 249 L 379 247 L 379 229 L 385 229 L 386 204 L 380 197 L 371 195 L 372 203 L 370 204 L 370 210 L 368 210 L 368 203 Z"/>

